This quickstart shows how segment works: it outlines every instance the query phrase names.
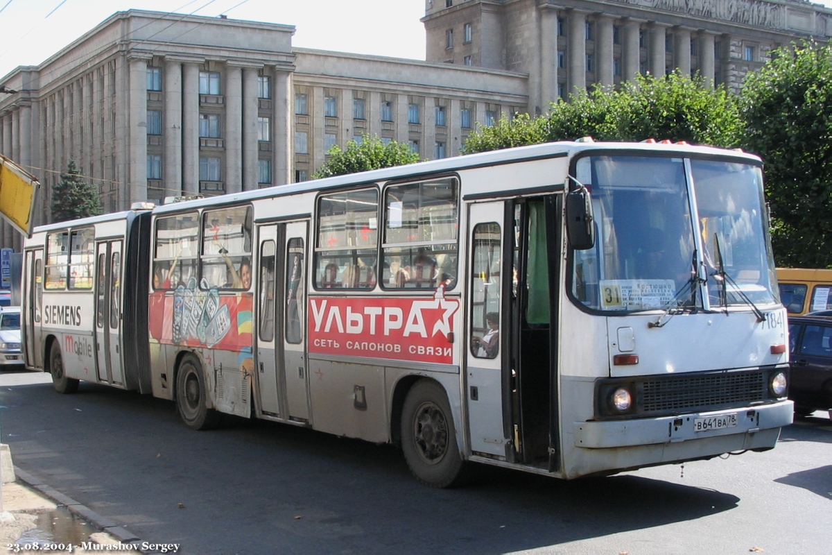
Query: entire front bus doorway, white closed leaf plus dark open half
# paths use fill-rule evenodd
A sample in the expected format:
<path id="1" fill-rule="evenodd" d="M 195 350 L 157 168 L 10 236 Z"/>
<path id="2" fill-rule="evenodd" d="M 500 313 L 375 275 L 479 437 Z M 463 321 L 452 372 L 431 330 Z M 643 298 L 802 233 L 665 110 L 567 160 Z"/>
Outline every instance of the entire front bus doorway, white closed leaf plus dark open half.
<path id="1" fill-rule="evenodd" d="M 557 229 L 556 206 L 547 197 L 478 203 L 468 212 L 471 449 L 548 470 L 557 470 L 559 450 L 557 278 L 550 278 L 557 256 L 547 240 Z"/>

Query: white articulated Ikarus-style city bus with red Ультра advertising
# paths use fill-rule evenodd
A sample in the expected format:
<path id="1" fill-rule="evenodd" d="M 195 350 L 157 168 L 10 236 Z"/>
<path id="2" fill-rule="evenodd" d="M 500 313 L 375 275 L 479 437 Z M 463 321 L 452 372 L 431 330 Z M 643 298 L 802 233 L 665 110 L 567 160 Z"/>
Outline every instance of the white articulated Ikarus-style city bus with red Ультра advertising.
<path id="1" fill-rule="evenodd" d="M 760 160 L 562 142 L 38 228 L 28 366 L 560 478 L 775 446 L 792 420 Z"/>

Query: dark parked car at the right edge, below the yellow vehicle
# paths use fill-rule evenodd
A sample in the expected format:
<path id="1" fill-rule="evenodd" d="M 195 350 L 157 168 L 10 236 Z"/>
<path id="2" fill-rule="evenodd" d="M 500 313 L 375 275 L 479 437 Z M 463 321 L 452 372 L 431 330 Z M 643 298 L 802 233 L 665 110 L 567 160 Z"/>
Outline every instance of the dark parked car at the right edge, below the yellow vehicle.
<path id="1" fill-rule="evenodd" d="M 789 347 L 795 413 L 832 409 L 832 316 L 790 316 Z"/>

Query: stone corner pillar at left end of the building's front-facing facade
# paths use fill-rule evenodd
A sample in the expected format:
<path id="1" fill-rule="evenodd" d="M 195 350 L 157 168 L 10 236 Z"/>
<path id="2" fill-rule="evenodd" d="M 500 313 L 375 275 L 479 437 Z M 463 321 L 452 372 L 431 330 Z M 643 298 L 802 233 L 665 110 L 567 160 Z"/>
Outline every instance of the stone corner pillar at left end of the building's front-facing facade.
<path id="1" fill-rule="evenodd" d="M 147 200 L 147 61 L 130 59 L 130 131 L 128 132 L 130 197 L 122 208 Z"/>

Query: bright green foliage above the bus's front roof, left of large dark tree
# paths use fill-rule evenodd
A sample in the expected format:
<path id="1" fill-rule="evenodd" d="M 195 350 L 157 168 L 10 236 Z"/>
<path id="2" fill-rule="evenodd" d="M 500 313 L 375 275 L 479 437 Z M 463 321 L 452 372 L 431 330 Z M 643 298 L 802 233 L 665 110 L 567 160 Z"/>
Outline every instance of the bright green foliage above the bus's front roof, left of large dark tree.
<path id="1" fill-rule="evenodd" d="M 709 87 L 699 77 L 678 72 L 638 76 L 618 90 L 595 87 L 553 102 L 543 116 L 515 116 L 483 127 L 465 141 L 463 151 L 496 150 L 547 141 L 592 136 L 597 141 L 670 139 L 733 147 L 742 123 L 737 99 L 725 87 Z"/>

